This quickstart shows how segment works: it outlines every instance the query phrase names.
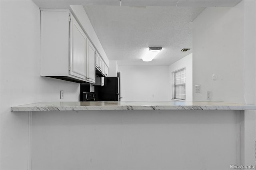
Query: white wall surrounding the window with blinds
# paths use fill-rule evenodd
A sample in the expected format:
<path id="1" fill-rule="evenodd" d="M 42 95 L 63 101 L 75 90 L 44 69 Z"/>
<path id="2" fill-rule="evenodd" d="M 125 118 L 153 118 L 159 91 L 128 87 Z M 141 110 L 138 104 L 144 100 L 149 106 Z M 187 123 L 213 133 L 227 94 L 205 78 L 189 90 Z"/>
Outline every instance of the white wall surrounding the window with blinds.
<path id="1" fill-rule="evenodd" d="M 170 87 L 172 85 L 172 72 L 186 68 L 186 101 L 193 100 L 193 55 L 192 53 L 183 57 L 169 66 Z M 170 100 L 172 99 L 172 90 Z"/>

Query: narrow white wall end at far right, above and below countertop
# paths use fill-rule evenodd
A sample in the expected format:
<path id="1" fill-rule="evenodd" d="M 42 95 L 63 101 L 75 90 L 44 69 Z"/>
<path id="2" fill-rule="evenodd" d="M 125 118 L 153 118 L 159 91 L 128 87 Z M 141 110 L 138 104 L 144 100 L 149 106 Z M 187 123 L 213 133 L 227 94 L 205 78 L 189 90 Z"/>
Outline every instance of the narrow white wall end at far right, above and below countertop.
<path id="1" fill-rule="evenodd" d="M 244 102 L 256 104 L 256 1 L 244 1 Z M 255 120 L 256 111 L 245 111 L 245 120 Z M 255 129 L 256 125 L 247 125 L 246 128 Z M 247 132 L 244 141 L 250 141 L 244 146 L 247 157 L 243 164 L 255 162 L 255 148 L 249 148 L 255 141 L 255 132 Z M 250 137 L 252 136 L 252 137 Z M 254 138 L 253 138 L 254 137 Z M 255 146 L 255 145 L 252 145 Z"/>

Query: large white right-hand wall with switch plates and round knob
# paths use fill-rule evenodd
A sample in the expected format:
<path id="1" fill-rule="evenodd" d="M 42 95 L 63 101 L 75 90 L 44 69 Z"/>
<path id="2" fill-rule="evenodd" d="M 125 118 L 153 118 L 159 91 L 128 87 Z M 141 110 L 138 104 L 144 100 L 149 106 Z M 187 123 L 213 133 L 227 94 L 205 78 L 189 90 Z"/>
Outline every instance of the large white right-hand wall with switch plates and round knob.
<path id="1" fill-rule="evenodd" d="M 193 22 L 193 87 L 202 85 L 194 101 L 212 100 L 256 103 L 256 1 L 245 0 L 234 8 L 206 8 Z M 212 74 L 217 80 L 211 79 Z M 255 120 L 255 111 L 245 111 L 244 120 Z M 255 129 L 255 123 L 245 125 Z M 247 132 L 242 165 L 255 164 L 255 130 Z M 248 148 L 250 146 L 250 148 Z M 254 147 L 251 147 L 254 146 Z"/>

